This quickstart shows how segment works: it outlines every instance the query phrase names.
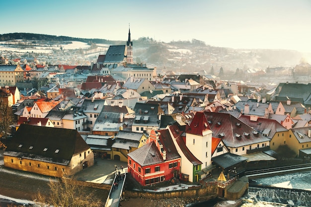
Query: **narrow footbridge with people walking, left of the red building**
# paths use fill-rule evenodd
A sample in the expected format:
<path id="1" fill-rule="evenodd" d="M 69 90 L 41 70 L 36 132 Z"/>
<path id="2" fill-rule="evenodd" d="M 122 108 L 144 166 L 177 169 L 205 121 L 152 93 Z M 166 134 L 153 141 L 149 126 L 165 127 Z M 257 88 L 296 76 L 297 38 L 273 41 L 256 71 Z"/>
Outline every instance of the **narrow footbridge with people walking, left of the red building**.
<path id="1" fill-rule="evenodd" d="M 116 172 L 109 195 L 105 204 L 105 207 L 119 207 L 120 201 L 122 200 L 122 192 L 125 184 L 127 168 L 120 171 L 120 176 Z M 119 179 L 120 178 L 120 179 Z M 115 184 L 118 183 L 116 186 Z"/>

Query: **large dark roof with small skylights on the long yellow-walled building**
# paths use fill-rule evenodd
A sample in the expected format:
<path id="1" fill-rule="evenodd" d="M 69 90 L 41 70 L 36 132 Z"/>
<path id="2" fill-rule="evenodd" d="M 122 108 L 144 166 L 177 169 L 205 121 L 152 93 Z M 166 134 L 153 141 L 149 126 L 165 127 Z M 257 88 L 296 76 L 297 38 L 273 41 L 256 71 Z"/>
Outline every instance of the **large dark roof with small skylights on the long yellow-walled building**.
<path id="1" fill-rule="evenodd" d="M 74 154 L 87 149 L 77 130 L 20 125 L 4 154 L 68 165 Z"/>

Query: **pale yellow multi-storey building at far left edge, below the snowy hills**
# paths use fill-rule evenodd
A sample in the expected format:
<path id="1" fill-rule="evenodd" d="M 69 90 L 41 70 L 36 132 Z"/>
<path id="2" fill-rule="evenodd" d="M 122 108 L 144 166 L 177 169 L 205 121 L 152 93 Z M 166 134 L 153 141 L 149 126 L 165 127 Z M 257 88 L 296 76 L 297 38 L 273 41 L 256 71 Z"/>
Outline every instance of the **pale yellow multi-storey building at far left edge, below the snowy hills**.
<path id="1" fill-rule="evenodd" d="M 15 86 L 24 81 L 24 70 L 19 66 L 0 65 L 0 86 Z"/>

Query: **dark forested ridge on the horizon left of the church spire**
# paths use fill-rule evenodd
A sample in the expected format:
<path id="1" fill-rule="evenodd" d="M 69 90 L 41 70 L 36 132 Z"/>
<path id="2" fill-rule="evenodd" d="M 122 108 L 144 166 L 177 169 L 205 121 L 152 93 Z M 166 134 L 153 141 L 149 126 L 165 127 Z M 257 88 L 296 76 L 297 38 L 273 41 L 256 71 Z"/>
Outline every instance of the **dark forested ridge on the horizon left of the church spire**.
<path id="1" fill-rule="evenodd" d="M 122 41 L 111 41 L 111 40 L 105 40 L 105 39 L 84 39 L 84 38 L 76 38 L 76 37 L 33 34 L 33 33 L 0 34 L 0 41 L 19 40 L 19 39 L 40 40 L 40 41 L 80 41 L 80 42 L 85 42 L 85 43 L 92 42 L 96 44 L 120 44 L 122 42 Z"/>

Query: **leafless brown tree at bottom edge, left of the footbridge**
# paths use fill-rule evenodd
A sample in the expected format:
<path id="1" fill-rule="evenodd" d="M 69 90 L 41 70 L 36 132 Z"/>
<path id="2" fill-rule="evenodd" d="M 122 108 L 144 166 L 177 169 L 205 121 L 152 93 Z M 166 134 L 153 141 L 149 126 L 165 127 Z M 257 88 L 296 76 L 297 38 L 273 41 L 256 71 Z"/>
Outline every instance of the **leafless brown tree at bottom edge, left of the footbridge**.
<path id="1" fill-rule="evenodd" d="M 77 181 L 63 177 L 62 181 L 49 182 L 50 194 L 48 196 L 40 192 L 35 195 L 34 200 L 38 207 L 102 207 L 103 203 L 96 199 L 92 192 L 78 185 Z"/>

